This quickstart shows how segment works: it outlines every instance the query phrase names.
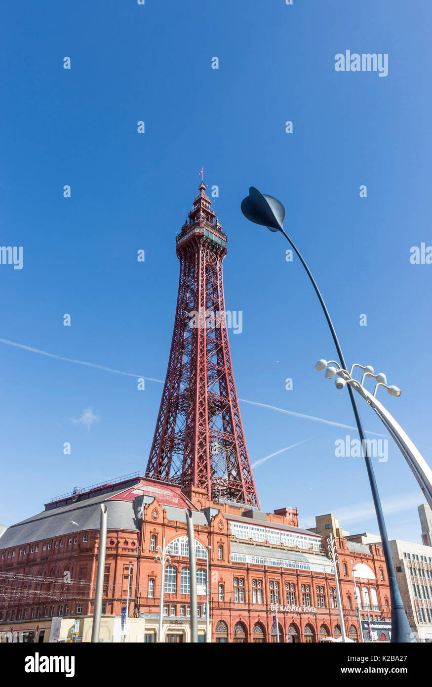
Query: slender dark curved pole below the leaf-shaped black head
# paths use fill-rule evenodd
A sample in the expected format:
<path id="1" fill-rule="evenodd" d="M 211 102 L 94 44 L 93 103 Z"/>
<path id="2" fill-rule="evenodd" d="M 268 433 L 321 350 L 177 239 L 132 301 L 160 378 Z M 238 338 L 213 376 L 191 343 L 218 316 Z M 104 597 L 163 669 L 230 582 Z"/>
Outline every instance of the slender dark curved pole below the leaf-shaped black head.
<path id="1" fill-rule="evenodd" d="M 330 315 L 328 314 L 327 306 L 324 303 L 323 297 L 321 296 L 321 293 L 318 289 L 317 283 L 315 282 L 315 279 L 312 277 L 312 273 L 310 272 L 310 269 L 308 268 L 306 262 L 304 261 L 302 254 L 299 252 L 297 247 L 294 245 L 291 238 L 289 238 L 288 234 L 286 234 L 286 232 L 284 232 L 284 229 L 282 229 L 282 227 L 281 227 L 280 231 L 282 232 L 282 234 L 284 234 L 286 240 L 288 241 L 288 243 L 290 243 L 291 247 L 293 247 L 295 254 L 297 254 L 297 257 L 299 258 L 300 262 L 302 262 L 304 269 L 306 269 L 306 272 L 308 273 L 308 277 L 309 277 L 310 281 L 312 282 L 312 286 L 314 287 L 315 293 L 317 293 L 319 302 L 321 303 L 321 307 L 323 308 L 323 313 L 326 316 L 326 320 L 327 320 L 328 326 L 330 328 L 330 332 L 331 332 L 332 337 L 333 337 L 334 345 L 336 346 L 337 354 L 339 356 L 339 361 L 341 363 L 342 368 L 344 370 L 346 370 L 347 366 L 345 363 L 345 359 L 343 357 L 343 353 L 342 353 L 341 346 L 339 344 L 339 340 L 337 338 L 336 330 L 334 329 L 332 320 L 330 319 Z M 350 401 L 351 401 L 352 409 L 354 411 L 354 417 L 356 418 L 356 425 L 357 425 L 357 429 L 359 430 L 359 436 L 361 439 L 361 447 L 363 449 L 363 453 L 365 456 L 367 475 L 369 477 L 370 488 L 372 491 L 372 499 L 374 500 L 376 519 L 378 521 L 378 528 L 380 530 L 381 545 L 383 546 L 385 565 L 387 567 L 387 574 L 389 576 L 390 602 L 391 602 L 391 640 L 390 641 L 396 642 L 396 643 L 413 642 L 416 640 L 413 640 L 411 627 L 409 627 L 409 622 L 407 619 L 407 613 L 405 613 L 405 608 L 404 608 L 404 605 L 402 603 L 402 597 L 400 596 L 398 583 L 396 582 L 396 574 L 394 572 L 393 559 L 391 558 L 389 537 L 387 535 L 387 528 L 385 526 L 383 508 L 381 507 L 380 496 L 378 493 L 378 486 L 377 486 L 376 480 L 375 480 L 374 467 L 372 466 L 372 460 L 370 459 L 370 455 L 369 455 L 369 452 L 367 450 L 365 430 L 363 429 L 363 423 L 361 421 L 359 408 L 357 407 L 357 402 L 356 402 L 356 398 L 354 396 L 354 391 L 352 390 L 352 387 L 350 384 L 348 384 L 348 393 L 350 394 Z"/>

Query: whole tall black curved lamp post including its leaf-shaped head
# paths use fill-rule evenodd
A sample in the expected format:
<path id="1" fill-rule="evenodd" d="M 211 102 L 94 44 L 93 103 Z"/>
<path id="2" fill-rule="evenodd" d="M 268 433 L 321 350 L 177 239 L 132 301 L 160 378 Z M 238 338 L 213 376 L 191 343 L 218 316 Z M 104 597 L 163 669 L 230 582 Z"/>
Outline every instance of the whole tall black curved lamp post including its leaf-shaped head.
<path id="1" fill-rule="evenodd" d="M 342 349 L 339 344 L 336 331 L 334 330 L 332 320 L 330 319 L 330 315 L 328 314 L 328 310 L 326 304 L 324 303 L 323 297 L 319 292 L 317 283 L 315 282 L 315 279 L 313 278 L 310 269 L 304 261 L 302 254 L 300 254 L 297 247 L 295 247 L 291 238 L 289 238 L 289 236 L 284 232 L 284 206 L 276 198 L 273 198 L 273 196 L 260 193 L 258 189 L 251 186 L 251 188 L 249 188 L 249 196 L 247 196 L 247 198 L 245 198 L 242 201 L 241 210 L 245 217 L 249 219 L 251 222 L 267 227 L 267 229 L 270 229 L 271 232 L 281 232 L 281 234 L 284 234 L 288 243 L 291 244 L 291 247 L 295 251 L 295 254 L 299 258 L 300 262 L 302 262 L 304 269 L 306 269 L 306 272 L 308 273 L 308 277 L 312 282 L 312 286 L 314 287 L 315 292 L 317 293 L 317 296 L 319 298 L 319 302 L 321 303 L 321 307 L 323 308 L 323 313 L 324 315 L 326 315 L 326 320 L 328 322 L 330 332 L 332 333 L 334 345 L 336 346 L 341 367 L 344 370 L 347 370 L 348 368 L 343 357 Z M 367 451 L 365 430 L 363 429 L 363 423 L 361 421 L 359 408 L 357 407 L 354 391 L 352 390 L 350 385 L 348 385 L 348 392 L 350 394 L 350 401 L 352 409 L 354 411 L 354 417 L 356 418 L 357 429 L 359 430 L 361 447 L 365 455 L 367 475 L 369 477 L 372 498 L 374 499 L 376 519 L 378 520 L 378 528 L 380 530 L 381 545 L 383 546 L 385 565 L 387 566 L 387 573 L 389 576 L 391 601 L 391 642 L 413 642 L 415 640 L 413 640 L 413 634 L 411 628 L 409 627 L 407 614 L 405 613 L 402 598 L 400 596 L 400 592 L 398 589 L 398 583 L 396 582 L 393 559 L 391 558 L 391 551 L 389 546 L 389 538 L 387 536 L 387 528 L 385 526 L 384 521 L 383 508 L 381 507 L 380 497 L 378 494 L 378 486 L 376 485 L 372 460 Z"/>

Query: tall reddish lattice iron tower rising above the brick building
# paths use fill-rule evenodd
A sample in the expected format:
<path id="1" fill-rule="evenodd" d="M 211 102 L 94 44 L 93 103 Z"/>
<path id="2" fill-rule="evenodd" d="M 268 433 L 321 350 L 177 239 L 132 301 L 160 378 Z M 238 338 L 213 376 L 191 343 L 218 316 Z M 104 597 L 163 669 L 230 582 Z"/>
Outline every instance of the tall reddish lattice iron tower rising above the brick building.
<path id="1" fill-rule="evenodd" d="M 177 234 L 179 294 L 146 477 L 258 507 L 229 352 L 222 262 L 227 235 L 201 182 Z"/>

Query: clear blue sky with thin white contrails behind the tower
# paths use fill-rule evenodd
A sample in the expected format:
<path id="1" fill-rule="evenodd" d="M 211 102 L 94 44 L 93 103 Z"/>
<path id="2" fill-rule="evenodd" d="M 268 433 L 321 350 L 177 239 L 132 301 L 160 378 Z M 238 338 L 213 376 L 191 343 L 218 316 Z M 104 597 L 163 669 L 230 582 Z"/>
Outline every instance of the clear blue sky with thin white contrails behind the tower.
<path id="1" fill-rule="evenodd" d="M 240 202 L 255 185 L 286 205 L 345 358 L 402 389 L 380 398 L 431 462 L 432 265 L 409 262 L 410 247 L 432 244 L 431 19 L 427 3 L 398 0 L 10 5 L 0 243 L 23 246 L 23 269 L 0 265 L 1 339 L 163 380 L 174 237 L 204 166 L 228 236 L 226 307 L 243 313 L 230 343 L 251 462 L 297 444 L 255 466 L 262 510 L 297 506 L 308 526 L 333 512 L 345 530 L 377 532 L 363 459 L 334 455 L 356 431 L 281 412 L 354 427 L 348 392 L 314 370 L 334 348 L 306 273 Z M 335 71 L 346 49 L 387 53 L 388 76 Z M 138 391 L 132 376 L 0 352 L 1 523 L 146 469 L 161 383 Z M 366 429 L 385 433 L 359 403 Z M 374 466 L 389 536 L 420 541 L 424 498 L 394 444 Z"/>

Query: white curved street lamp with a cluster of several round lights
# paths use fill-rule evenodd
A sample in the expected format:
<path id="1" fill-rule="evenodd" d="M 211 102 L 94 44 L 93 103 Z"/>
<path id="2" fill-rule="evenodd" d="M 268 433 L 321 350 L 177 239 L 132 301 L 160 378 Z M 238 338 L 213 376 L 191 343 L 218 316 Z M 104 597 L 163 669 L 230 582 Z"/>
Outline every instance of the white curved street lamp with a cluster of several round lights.
<path id="1" fill-rule="evenodd" d="M 326 361 L 321 359 L 317 362 L 315 365 L 316 370 L 323 370 L 323 363 Z M 358 367 L 361 367 L 361 365 L 358 365 Z M 334 368 L 327 368 L 327 370 L 334 370 Z M 352 368 L 351 368 L 352 369 Z M 365 369 L 365 368 L 363 368 Z M 387 389 L 387 392 L 390 394 L 390 396 L 400 396 L 402 393 L 400 389 L 396 386 L 389 386 L 387 385 L 387 379 L 385 377 L 385 374 L 383 372 L 380 372 L 379 374 L 369 374 L 365 373 L 363 374 L 361 382 L 359 382 L 357 379 L 353 379 L 351 374 L 347 372 L 347 370 L 342 370 L 339 367 L 339 370 L 335 373 L 337 374 L 337 380 L 336 380 L 336 387 L 337 389 L 341 389 L 345 386 L 345 384 L 348 384 L 348 388 L 353 387 L 354 390 L 362 396 L 362 398 L 365 399 L 366 403 L 372 407 L 376 415 L 378 415 L 378 418 L 380 418 L 381 422 L 389 432 L 390 436 L 394 439 L 396 442 L 396 446 L 402 453 L 403 457 L 407 461 L 414 477 L 416 477 L 416 480 L 420 486 L 420 489 L 422 490 L 424 496 L 427 499 L 427 502 L 429 503 L 429 506 L 432 508 L 432 470 L 427 464 L 426 460 L 424 460 L 422 454 L 420 451 L 417 449 L 417 447 L 413 444 L 409 436 L 403 431 L 402 427 L 398 425 L 396 420 L 394 419 L 393 416 L 391 416 L 388 412 L 387 409 L 383 406 L 382 403 L 376 400 L 376 392 L 378 390 L 378 387 L 383 386 L 385 389 Z M 370 394 L 370 392 L 365 389 L 363 386 L 363 381 L 365 380 L 365 376 L 371 376 L 374 377 L 374 379 L 385 379 L 386 383 L 383 383 L 382 381 L 378 381 L 378 383 L 375 385 L 374 389 L 374 394 Z M 326 374 L 326 376 L 328 376 Z M 331 378 L 330 378 L 331 379 Z"/>

